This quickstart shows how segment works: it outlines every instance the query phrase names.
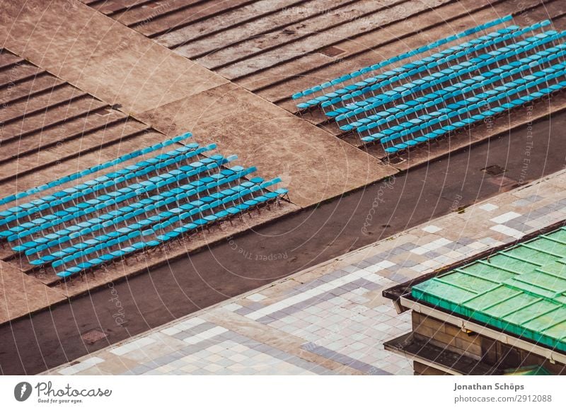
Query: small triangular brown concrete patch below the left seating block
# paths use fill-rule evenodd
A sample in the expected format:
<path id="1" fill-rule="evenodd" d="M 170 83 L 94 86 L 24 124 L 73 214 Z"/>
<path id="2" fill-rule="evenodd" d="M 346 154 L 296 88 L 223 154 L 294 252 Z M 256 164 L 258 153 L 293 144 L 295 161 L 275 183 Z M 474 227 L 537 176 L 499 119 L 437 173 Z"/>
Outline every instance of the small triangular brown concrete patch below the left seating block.
<path id="1" fill-rule="evenodd" d="M 0 260 L 0 323 L 67 299 L 20 269 Z"/>

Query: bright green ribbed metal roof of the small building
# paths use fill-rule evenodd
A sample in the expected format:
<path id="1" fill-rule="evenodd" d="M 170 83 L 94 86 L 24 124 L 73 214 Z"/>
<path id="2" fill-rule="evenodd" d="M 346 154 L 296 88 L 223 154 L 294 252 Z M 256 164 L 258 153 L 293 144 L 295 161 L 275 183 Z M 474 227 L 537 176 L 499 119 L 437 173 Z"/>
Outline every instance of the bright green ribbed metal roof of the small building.
<path id="1" fill-rule="evenodd" d="M 566 230 L 419 283 L 412 296 L 566 351 Z"/>

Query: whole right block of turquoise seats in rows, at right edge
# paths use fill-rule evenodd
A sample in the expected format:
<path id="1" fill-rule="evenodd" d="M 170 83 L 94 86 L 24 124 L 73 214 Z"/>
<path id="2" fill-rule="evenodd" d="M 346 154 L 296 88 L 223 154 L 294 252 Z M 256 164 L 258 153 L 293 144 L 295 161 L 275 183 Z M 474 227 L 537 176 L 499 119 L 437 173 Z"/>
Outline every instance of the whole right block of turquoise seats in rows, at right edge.
<path id="1" fill-rule="evenodd" d="M 566 31 L 548 20 L 509 23 L 469 28 L 292 98 L 301 115 L 323 110 L 342 135 L 380 144 L 385 157 L 427 146 L 566 87 Z"/>

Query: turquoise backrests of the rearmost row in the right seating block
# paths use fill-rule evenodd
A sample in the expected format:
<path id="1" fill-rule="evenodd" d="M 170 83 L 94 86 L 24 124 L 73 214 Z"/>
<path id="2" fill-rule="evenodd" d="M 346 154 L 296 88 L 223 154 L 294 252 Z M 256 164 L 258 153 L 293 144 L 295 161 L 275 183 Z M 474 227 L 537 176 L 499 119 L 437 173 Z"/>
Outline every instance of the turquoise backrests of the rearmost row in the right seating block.
<path id="1" fill-rule="evenodd" d="M 364 68 L 356 70 L 356 71 L 352 71 L 350 74 L 345 74 L 343 76 L 334 78 L 333 80 L 326 81 L 325 83 L 321 83 L 318 86 L 306 88 L 306 90 L 303 90 L 300 93 L 295 93 L 295 94 L 291 95 L 291 98 L 293 100 L 297 100 L 299 98 L 306 97 L 306 96 L 311 95 L 313 93 L 317 93 L 318 91 L 321 91 L 325 88 L 330 88 L 332 86 L 336 86 L 337 84 L 344 83 L 345 81 L 349 81 L 352 78 L 356 78 L 358 76 L 361 76 L 362 74 L 366 74 L 366 73 L 369 73 L 371 71 L 379 70 L 379 69 L 383 68 L 384 66 L 388 66 L 389 64 L 393 64 L 393 63 L 396 63 L 398 61 L 408 59 L 408 58 L 413 57 L 417 54 L 422 54 L 423 52 L 427 52 L 430 49 L 437 48 L 437 47 L 444 45 L 448 42 L 453 42 L 453 41 L 458 40 L 462 37 L 467 37 L 468 35 L 473 35 L 475 33 L 482 31 L 482 30 L 485 30 L 487 28 L 491 28 L 495 25 L 499 25 L 499 24 L 502 24 L 502 23 L 504 23 L 506 21 L 510 21 L 510 20 L 512 20 L 512 16 L 504 16 L 502 18 L 496 18 L 493 21 L 489 21 L 487 23 L 480 24 L 480 25 L 476 26 L 475 28 L 469 28 L 467 30 L 464 30 L 461 33 L 456 34 L 456 35 L 450 35 L 450 36 L 445 37 L 443 39 L 431 42 L 428 45 L 424 45 L 422 47 L 418 47 L 416 49 L 413 49 L 409 52 L 404 52 L 402 54 L 398 54 L 395 57 L 391 57 L 390 59 L 380 61 L 377 64 L 367 66 L 367 67 L 364 67 Z"/>

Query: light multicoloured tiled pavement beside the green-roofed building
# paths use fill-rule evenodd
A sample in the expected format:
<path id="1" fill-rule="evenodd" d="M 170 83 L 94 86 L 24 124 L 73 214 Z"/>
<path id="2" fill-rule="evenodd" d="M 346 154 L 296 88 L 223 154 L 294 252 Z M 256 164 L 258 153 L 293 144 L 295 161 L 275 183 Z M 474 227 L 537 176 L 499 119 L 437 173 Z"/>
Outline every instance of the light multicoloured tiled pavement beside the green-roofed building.
<path id="1" fill-rule="evenodd" d="M 566 219 L 566 172 L 289 276 L 51 374 L 409 375 L 383 350 L 408 332 L 383 288 Z M 379 216 L 376 208 L 374 218 Z"/>

